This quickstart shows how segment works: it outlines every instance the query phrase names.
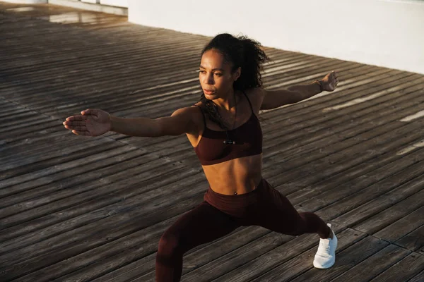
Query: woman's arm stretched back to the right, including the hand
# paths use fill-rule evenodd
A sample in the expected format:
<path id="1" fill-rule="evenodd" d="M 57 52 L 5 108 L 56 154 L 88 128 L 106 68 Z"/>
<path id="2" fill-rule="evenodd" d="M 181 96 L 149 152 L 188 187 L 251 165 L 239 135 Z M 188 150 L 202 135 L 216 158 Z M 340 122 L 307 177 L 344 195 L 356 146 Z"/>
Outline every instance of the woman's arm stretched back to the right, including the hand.
<path id="1" fill-rule="evenodd" d="M 322 80 L 315 80 L 309 85 L 294 85 L 286 90 L 264 90 L 261 110 L 275 109 L 287 104 L 295 104 L 308 99 L 322 91 L 334 91 L 338 78 L 335 71 L 326 75 Z"/>

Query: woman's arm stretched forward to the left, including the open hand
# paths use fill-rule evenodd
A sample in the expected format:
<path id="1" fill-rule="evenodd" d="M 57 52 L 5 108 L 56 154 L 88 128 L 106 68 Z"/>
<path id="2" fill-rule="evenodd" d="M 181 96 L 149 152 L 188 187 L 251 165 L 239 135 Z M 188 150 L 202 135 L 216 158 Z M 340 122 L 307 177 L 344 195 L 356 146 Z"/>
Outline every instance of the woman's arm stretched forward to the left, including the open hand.
<path id="1" fill-rule="evenodd" d="M 159 137 L 199 133 L 199 110 L 194 107 L 177 109 L 163 118 L 119 118 L 100 109 L 87 109 L 81 115 L 70 116 L 65 128 L 76 135 L 98 136 L 108 131 L 139 137 Z"/>

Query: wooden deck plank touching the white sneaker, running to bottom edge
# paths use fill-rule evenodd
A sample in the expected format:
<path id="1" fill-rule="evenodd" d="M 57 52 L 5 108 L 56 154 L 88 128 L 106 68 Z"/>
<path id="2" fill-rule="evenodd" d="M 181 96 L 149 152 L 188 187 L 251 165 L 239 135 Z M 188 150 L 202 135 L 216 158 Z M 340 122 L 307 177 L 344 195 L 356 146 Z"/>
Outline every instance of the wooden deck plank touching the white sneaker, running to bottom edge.
<path id="1" fill-rule="evenodd" d="M 365 261 L 365 259 L 384 249 L 387 245 L 389 245 L 389 243 L 368 236 L 355 245 L 340 252 L 337 256 L 336 264 L 330 269 L 326 269 L 325 271 L 322 271 L 322 269 L 310 269 L 310 271 L 293 279 L 293 282 L 330 281 L 349 269 L 352 269 L 353 266 Z"/>

